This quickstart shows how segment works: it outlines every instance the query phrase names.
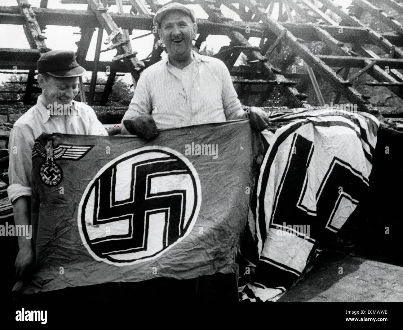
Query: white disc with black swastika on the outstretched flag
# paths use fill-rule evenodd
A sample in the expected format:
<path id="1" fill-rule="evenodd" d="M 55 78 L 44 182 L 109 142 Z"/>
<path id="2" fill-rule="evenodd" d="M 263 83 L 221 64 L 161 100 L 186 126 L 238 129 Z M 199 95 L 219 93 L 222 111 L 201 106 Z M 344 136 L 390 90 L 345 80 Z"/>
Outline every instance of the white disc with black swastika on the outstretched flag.
<path id="1" fill-rule="evenodd" d="M 108 264 L 155 259 L 191 232 L 201 202 L 199 176 L 182 154 L 162 146 L 132 150 L 87 185 L 77 216 L 81 240 Z"/>

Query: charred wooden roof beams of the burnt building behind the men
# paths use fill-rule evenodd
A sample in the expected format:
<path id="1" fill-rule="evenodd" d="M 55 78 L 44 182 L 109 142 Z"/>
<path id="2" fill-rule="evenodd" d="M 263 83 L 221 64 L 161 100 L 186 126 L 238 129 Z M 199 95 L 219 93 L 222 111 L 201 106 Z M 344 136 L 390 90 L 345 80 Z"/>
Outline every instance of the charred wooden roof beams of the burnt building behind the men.
<path id="1" fill-rule="evenodd" d="M 18 6 L 0 6 L 0 23 L 23 25 L 31 49 L 0 48 L 0 70 L 29 70 L 24 82 L 23 104 L 32 102 L 31 94 L 38 92 L 35 87 L 36 61 L 41 53 L 49 50 L 43 30 L 47 25 L 80 27 L 81 38 L 77 44 L 77 61 L 92 72 L 87 95 L 81 82 L 81 100 L 94 104 L 97 72 L 110 68 L 107 82 L 99 105 L 105 106 L 112 91 L 116 74 L 129 72 L 135 83 L 141 71 L 160 59 L 161 47 L 150 49 L 150 55 L 139 59 L 136 41 L 131 41 L 133 30 L 152 29 L 154 13 L 162 6 L 157 0 L 61 0 L 62 4 L 88 4 L 88 10 L 67 10 L 47 8 L 48 1 L 41 0 L 40 7 L 34 8 L 28 0 L 16 0 Z M 385 10 L 403 14 L 403 4 L 395 0 L 382 2 L 381 9 L 376 1 L 353 0 L 349 11 L 330 0 L 179 0 L 182 4 L 197 4 L 208 15 L 208 19 L 197 19 L 199 35 L 195 47 L 200 48 L 209 35 L 226 35 L 231 40 L 228 46 L 221 47 L 214 56 L 222 59 L 233 76 L 237 92 L 244 104 L 250 95 L 257 95 L 257 104 L 264 105 L 272 96 L 274 88 L 284 96 L 290 108 L 310 107 L 307 94 L 301 90 L 312 82 L 316 99 L 312 105 L 338 104 L 341 100 L 356 104 L 361 111 L 403 117 L 399 109 L 382 111 L 371 104 L 370 96 L 356 88 L 361 76 L 368 75 L 372 81 L 367 86 L 387 88 L 402 98 L 403 74 L 403 25 Z M 118 13 L 108 11 L 108 6 L 116 5 Z M 123 6 L 131 5 L 130 13 L 123 12 Z M 241 19 L 236 21 L 223 14 L 226 7 Z M 275 8 L 275 9 L 274 9 Z M 277 20 L 272 17 L 278 11 Z M 357 18 L 369 13 L 382 25 L 392 31 L 379 33 Z M 233 16 L 233 15 L 231 15 Z M 298 21 L 303 23 L 298 23 Z M 102 33 L 98 34 L 93 61 L 86 55 L 93 37 L 94 28 L 102 28 L 108 34 L 107 51 L 116 49 L 112 61 L 99 60 L 102 46 Z M 101 30 L 102 30 L 101 29 Z M 379 30 L 379 29 L 378 29 Z M 258 47 L 251 45 L 249 38 L 260 38 Z M 154 45 L 158 41 L 155 38 Z M 320 51 L 312 51 L 313 43 L 320 43 Z M 271 64 L 274 53 L 287 47 L 291 51 L 280 68 Z M 374 51 L 376 48 L 378 51 Z M 105 51 L 105 50 L 104 50 Z M 236 64 L 240 54 L 247 57 L 246 65 Z M 378 55 L 380 54 L 380 55 Z M 306 68 L 295 65 L 297 59 L 305 62 Z M 297 70 L 298 69 L 298 70 Z M 332 96 L 322 94 L 324 84 L 334 90 Z M 368 85 L 369 84 L 369 85 Z M 6 92 L 6 91 L 2 91 Z M 326 101 L 326 102 L 325 102 Z M 122 113 L 121 113 L 122 112 Z M 124 110 L 118 111 L 118 117 Z M 118 122 L 116 116 L 101 114 L 105 122 Z"/>

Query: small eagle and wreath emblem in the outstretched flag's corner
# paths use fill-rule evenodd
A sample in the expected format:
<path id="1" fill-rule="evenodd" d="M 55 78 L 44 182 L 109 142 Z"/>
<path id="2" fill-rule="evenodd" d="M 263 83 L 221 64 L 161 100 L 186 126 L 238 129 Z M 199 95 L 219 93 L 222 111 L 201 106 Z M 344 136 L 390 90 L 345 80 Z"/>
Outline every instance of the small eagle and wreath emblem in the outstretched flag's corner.
<path id="1" fill-rule="evenodd" d="M 52 140 L 46 140 L 43 146 L 35 141 L 32 148 L 32 158 L 40 156 L 45 162 L 39 167 L 39 176 L 42 182 L 48 186 L 56 186 L 63 178 L 62 168 L 56 164 L 56 159 L 79 160 L 91 150 L 93 146 L 67 146 L 60 145 L 54 148 Z"/>

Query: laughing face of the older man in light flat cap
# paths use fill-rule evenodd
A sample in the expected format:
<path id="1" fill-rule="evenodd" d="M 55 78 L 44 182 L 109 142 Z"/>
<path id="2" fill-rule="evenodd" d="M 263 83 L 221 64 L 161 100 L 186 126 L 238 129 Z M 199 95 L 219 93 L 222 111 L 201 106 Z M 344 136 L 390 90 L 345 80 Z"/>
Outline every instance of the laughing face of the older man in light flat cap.
<path id="1" fill-rule="evenodd" d="M 197 34 L 197 25 L 181 11 L 168 12 L 161 22 L 158 34 L 171 59 L 185 61 L 192 50 L 192 40 Z"/>

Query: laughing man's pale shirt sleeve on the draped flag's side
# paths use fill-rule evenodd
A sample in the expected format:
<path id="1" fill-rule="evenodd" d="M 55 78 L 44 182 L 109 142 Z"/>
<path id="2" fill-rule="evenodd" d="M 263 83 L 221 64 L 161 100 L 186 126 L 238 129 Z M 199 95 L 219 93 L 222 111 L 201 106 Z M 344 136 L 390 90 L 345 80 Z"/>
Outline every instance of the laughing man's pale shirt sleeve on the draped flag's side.
<path id="1" fill-rule="evenodd" d="M 241 102 L 238 100 L 237 92 L 232 83 L 231 74 L 224 63 L 220 65 L 222 76 L 222 106 L 226 120 L 247 118 L 242 109 Z"/>

